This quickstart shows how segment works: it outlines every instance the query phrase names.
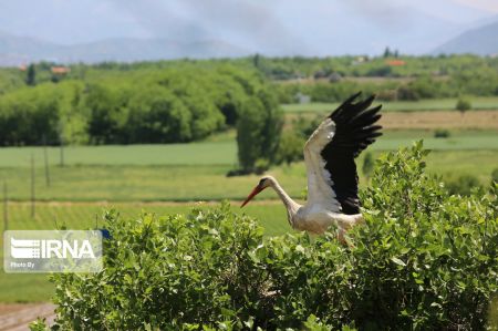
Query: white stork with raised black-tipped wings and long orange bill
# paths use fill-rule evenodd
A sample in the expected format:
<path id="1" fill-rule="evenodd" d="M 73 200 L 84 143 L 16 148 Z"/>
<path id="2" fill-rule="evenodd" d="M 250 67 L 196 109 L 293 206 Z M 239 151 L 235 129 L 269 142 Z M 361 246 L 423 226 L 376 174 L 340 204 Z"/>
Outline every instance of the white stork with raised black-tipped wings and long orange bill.
<path id="1" fill-rule="evenodd" d="M 347 99 L 326 117 L 304 145 L 305 205 L 292 200 L 276 178 L 264 176 L 241 207 L 264 188 L 272 187 L 286 205 L 292 228 L 319 235 L 334 226 L 339 230 L 339 239 L 344 242 L 345 231 L 363 220 L 354 158 L 382 135 L 382 126 L 375 125 L 381 118 L 382 105 L 369 108 L 374 95 L 353 103 L 360 94 Z"/>

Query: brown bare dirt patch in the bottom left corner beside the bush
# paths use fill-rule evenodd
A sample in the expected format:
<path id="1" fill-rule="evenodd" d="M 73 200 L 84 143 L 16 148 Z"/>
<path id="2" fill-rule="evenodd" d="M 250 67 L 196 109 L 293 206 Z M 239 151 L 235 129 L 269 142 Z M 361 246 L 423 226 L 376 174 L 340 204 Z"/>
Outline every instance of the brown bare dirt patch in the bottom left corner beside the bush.
<path id="1" fill-rule="evenodd" d="M 52 303 L 0 303 L 0 331 L 29 330 L 29 323 L 45 318 L 53 323 L 55 306 Z"/>

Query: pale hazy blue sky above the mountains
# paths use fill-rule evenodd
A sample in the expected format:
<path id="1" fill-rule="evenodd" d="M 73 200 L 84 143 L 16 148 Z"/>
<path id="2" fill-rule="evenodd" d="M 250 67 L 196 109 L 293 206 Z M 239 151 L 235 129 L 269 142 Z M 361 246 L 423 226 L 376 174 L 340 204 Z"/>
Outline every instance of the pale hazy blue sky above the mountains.
<path id="1" fill-rule="evenodd" d="M 437 43 L 494 15 L 498 0 L 1 0 L 0 31 L 64 44 L 164 38 L 320 53 L 328 49 L 317 44 L 362 33 L 369 48 L 406 37 L 416 50 L 428 46 L 425 34 Z"/>

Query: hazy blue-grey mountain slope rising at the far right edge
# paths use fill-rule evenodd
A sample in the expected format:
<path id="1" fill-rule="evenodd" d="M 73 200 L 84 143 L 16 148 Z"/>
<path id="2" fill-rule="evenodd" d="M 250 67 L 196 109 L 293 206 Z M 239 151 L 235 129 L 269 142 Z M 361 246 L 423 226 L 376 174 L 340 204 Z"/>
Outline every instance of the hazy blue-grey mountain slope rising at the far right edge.
<path id="1" fill-rule="evenodd" d="M 498 54 L 498 21 L 468 30 L 445 42 L 433 54 Z"/>

